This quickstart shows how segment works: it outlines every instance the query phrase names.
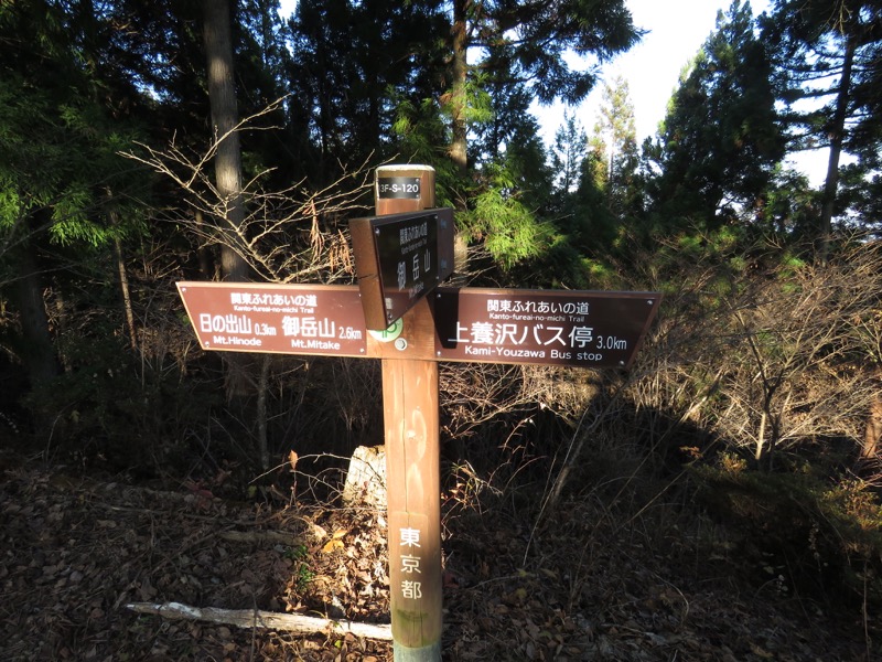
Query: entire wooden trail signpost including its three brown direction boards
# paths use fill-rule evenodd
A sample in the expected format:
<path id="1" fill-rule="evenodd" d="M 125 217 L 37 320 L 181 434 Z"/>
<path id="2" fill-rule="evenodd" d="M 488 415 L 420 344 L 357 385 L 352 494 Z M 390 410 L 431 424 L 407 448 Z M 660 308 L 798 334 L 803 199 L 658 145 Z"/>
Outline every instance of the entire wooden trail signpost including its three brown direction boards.
<path id="1" fill-rule="evenodd" d="M 444 288 L 451 210 L 434 171 L 376 171 L 351 224 L 358 286 L 179 282 L 205 350 L 380 359 L 396 662 L 441 660 L 438 362 L 627 369 L 660 295 Z"/>

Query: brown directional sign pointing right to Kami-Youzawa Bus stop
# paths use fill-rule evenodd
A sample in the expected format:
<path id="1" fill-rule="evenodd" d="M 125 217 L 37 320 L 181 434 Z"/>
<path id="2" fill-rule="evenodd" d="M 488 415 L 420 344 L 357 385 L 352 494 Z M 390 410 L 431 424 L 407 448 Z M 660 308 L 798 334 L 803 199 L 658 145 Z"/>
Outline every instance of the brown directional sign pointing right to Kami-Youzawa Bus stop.
<path id="1" fill-rule="evenodd" d="M 660 295 L 440 288 L 441 361 L 628 367 Z"/>

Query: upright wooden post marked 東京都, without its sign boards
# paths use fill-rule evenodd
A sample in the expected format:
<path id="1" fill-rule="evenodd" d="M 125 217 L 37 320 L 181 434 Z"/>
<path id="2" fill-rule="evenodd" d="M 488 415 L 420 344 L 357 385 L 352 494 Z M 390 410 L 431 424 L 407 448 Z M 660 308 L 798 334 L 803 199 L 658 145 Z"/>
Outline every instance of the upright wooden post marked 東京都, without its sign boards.
<path id="1" fill-rule="evenodd" d="M 377 215 L 434 206 L 434 170 L 385 166 L 376 171 Z M 405 314 L 399 345 L 418 345 L 428 302 Z M 404 340 L 404 342 L 400 342 Z M 396 662 L 441 661 L 441 456 L 438 363 L 383 360 L 389 591 Z"/>

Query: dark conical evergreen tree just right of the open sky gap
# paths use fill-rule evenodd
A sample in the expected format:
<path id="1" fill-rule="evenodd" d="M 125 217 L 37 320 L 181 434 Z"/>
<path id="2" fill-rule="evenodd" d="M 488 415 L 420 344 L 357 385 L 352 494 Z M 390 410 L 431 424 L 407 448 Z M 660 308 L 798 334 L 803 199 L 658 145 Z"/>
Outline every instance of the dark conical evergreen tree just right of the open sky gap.
<path id="1" fill-rule="evenodd" d="M 735 0 L 684 72 L 654 148 L 659 227 L 714 228 L 755 215 L 784 156 L 771 67 L 750 4 Z"/>

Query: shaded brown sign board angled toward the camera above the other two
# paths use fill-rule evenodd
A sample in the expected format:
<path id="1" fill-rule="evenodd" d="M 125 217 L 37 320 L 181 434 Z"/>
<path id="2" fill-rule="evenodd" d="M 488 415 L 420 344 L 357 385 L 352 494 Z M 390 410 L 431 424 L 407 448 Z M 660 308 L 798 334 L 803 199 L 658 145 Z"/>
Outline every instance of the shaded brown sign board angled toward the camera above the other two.
<path id="1" fill-rule="evenodd" d="M 453 210 L 349 223 L 368 329 L 386 329 L 453 273 Z"/>

